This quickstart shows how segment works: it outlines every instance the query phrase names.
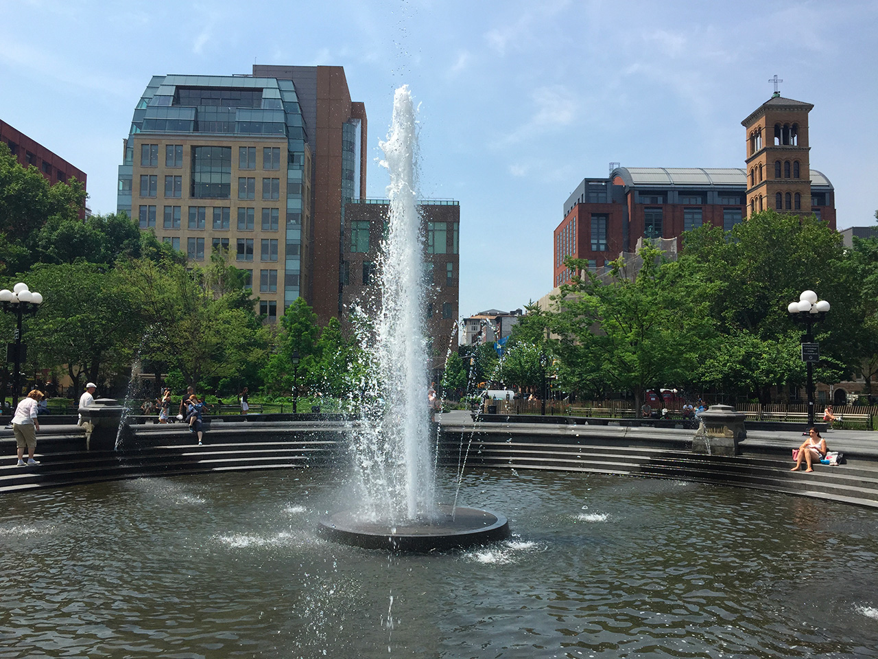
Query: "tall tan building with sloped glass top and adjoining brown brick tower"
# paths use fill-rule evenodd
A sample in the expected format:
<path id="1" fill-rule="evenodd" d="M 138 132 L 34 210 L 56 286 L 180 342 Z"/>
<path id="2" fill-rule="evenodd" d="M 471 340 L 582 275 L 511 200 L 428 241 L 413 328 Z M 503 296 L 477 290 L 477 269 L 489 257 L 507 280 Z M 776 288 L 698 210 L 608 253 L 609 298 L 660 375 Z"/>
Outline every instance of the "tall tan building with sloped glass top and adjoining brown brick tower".
<path id="1" fill-rule="evenodd" d="M 118 210 L 193 263 L 227 251 L 230 264 L 248 272 L 270 322 L 299 296 L 315 309 L 320 299 L 325 321 L 338 315 L 341 295 L 339 258 L 333 250 L 327 256 L 324 243 L 327 234 L 330 243 L 342 235 L 342 199 L 365 189 L 355 162 L 365 112 L 350 102 L 346 83 L 340 102 L 318 101 L 326 96 L 322 78 L 344 82 L 340 67 L 261 69 L 270 74 L 154 76 L 125 140 Z M 342 167 L 321 176 L 327 163 Z M 318 180 L 324 190 L 315 190 Z M 327 290 L 335 296 L 323 300 Z"/>

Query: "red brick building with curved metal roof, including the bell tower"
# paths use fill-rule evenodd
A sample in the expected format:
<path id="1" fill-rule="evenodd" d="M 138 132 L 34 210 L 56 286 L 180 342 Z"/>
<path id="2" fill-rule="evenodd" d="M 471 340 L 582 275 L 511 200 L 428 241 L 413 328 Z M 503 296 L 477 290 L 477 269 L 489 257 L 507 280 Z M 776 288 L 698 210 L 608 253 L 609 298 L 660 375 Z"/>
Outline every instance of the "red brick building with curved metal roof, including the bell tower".
<path id="1" fill-rule="evenodd" d="M 607 178 L 584 179 L 554 231 L 552 286 L 572 277 L 566 257 L 596 269 L 634 251 L 642 237 L 675 238 L 680 248 L 684 231 L 703 224 L 729 230 L 766 208 L 814 213 L 835 228 L 834 188 L 810 169 L 812 107 L 775 94 L 752 112 L 742 122 L 746 168 L 616 166 Z"/>

